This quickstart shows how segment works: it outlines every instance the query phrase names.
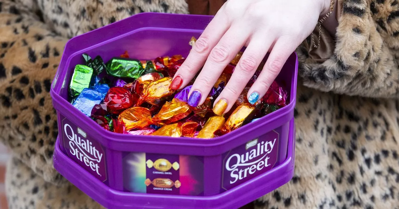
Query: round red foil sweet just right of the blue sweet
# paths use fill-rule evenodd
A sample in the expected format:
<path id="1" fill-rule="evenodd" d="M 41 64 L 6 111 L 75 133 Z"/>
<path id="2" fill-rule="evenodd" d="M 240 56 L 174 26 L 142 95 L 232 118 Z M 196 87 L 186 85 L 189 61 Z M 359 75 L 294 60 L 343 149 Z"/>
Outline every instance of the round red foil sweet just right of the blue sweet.
<path id="1" fill-rule="evenodd" d="M 137 96 L 122 87 L 112 87 L 104 98 L 109 113 L 118 114 L 123 110 L 132 107 L 137 101 Z"/>

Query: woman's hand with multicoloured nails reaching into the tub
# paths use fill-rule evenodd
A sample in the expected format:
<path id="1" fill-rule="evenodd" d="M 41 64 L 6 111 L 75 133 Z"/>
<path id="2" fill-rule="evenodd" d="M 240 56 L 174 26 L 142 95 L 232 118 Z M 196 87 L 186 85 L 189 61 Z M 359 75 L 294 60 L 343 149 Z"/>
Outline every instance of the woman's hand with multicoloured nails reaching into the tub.
<path id="1" fill-rule="evenodd" d="M 330 0 L 228 0 L 217 12 L 174 76 L 171 88 L 196 78 L 189 94 L 191 106 L 201 105 L 224 68 L 247 46 L 228 84 L 215 101 L 221 115 L 232 107 L 267 54 L 269 58 L 248 92 L 255 104 L 269 89 L 296 47 L 312 33 Z M 204 64 L 205 63 L 205 64 Z M 218 102 L 220 100 L 220 102 Z"/>

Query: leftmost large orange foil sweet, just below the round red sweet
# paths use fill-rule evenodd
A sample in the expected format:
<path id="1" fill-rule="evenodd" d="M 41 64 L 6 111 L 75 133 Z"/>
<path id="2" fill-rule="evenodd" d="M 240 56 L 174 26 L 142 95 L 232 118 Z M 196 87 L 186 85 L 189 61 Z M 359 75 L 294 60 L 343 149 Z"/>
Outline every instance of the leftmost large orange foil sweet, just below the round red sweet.
<path id="1" fill-rule="evenodd" d="M 151 111 L 145 107 L 130 107 L 120 113 L 118 121 L 125 125 L 126 131 L 142 129 L 151 125 Z"/>

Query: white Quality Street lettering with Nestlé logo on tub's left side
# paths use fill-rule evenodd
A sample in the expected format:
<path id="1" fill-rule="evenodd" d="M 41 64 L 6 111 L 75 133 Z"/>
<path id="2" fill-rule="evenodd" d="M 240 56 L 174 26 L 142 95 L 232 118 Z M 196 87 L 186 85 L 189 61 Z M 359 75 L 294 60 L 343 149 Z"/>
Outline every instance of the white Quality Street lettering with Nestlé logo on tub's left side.
<path id="1" fill-rule="evenodd" d="M 86 133 L 79 128 L 77 129 L 77 133 L 86 138 Z M 97 175 L 101 176 L 99 173 L 99 163 L 103 159 L 103 153 L 100 153 L 88 139 L 82 139 L 75 134 L 69 124 L 64 125 L 64 133 L 69 139 L 69 147 L 71 147 L 69 152 L 78 160 L 84 162 L 85 165 L 96 172 Z"/>

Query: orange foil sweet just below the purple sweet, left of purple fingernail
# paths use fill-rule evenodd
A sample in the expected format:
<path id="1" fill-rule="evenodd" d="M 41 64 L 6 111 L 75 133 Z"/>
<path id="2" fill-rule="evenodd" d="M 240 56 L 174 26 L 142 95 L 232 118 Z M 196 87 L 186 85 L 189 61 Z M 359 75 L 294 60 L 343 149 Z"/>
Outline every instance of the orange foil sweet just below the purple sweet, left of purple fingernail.
<path id="1" fill-rule="evenodd" d="M 172 102 L 166 102 L 160 111 L 152 117 L 156 125 L 166 125 L 179 121 L 191 113 L 190 105 L 187 102 L 173 98 Z"/>

